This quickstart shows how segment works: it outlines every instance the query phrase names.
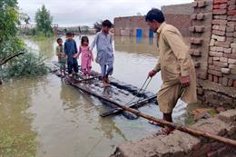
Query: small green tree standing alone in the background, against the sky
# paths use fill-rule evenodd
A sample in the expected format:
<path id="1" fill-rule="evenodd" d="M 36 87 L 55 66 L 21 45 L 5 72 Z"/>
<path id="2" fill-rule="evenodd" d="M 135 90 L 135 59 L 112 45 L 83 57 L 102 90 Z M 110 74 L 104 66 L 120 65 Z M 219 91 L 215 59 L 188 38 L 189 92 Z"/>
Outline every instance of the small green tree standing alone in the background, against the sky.
<path id="1" fill-rule="evenodd" d="M 38 33 L 43 33 L 45 36 L 51 36 L 53 34 L 52 29 L 52 16 L 46 9 L 45 5 L 41 9 L 38 9 L 35 15 L 36 29 Z"/>

